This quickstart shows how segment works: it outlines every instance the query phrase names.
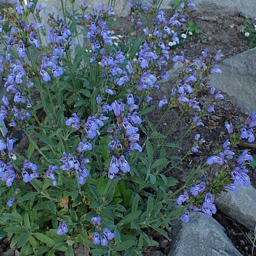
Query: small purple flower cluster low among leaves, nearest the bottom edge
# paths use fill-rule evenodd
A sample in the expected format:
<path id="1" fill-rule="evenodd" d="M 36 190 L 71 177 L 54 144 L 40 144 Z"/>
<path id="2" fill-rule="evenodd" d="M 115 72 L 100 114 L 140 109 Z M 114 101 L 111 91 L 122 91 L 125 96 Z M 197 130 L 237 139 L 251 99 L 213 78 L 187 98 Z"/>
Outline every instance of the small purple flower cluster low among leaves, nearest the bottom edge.
<path id="1" fill-rule="evenodd" d="M 102 246 L 107 246 L 108 242 L 114 239 L 115 235 L 107 228 L 103 228 L 101 230 L 101 220 L 100 217 L 92 217 L 91 219 L 93 225 L 98 229 L 95 231 L 93 236 L 93 243 L 99 244 L 101 243 Z"/>

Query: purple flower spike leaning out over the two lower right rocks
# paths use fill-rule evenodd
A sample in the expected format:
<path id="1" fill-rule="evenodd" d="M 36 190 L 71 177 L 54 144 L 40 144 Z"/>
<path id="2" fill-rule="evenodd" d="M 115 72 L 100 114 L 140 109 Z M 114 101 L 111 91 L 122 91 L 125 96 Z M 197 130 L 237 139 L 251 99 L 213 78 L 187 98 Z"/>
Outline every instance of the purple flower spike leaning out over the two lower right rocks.
<path id="1" fill-rule="evenodd" d="M 250 115 L 252 117 L 253 115 Z M 253 120 L 250 118 L 250 120 Z M 230 131 L 230 124 L 226 125 Z M 233 159 L 235 153 L 230 150 L 230 142 L 227 139 L 222 145 L 222 151 L 218 155 L 210 156 L 206 159 L 206 163 L 209 165 L 218 164 L 225 166 L 220 172 L 217 173 L 217 177 L 212 182 L 203 180 L 194 187 L 190 188 L 191 195 L 185 191 L 177 198 L 177 203 L 181 205 L 185 202 L 190 202 L 191 205 L 188 210 L 181 215 L 181 220 L 184 222 L 189 221 L 190 211 L 202 211 L 205 213 L 206 218 L 209 218 L 216 212 L 216 207 L 213 202 L 213 197 L 218 196 L 220 189 L 223 191 L 231 190 L 237 193 L 237 186 L 250 186 L 250 178 L 247 175 L 248 170 L 245 168 L 247 161 L 252 160 L 252 156 L 247 154 L 247 150 L 236 159 L 235 162 L 227 165 L 229 159 Z M 227 159 L 225 159 L 227 158 Z M 205 177 L 203 177 L 205 179 Z M 204 199 L 204 201 L 203 201 Z"/>

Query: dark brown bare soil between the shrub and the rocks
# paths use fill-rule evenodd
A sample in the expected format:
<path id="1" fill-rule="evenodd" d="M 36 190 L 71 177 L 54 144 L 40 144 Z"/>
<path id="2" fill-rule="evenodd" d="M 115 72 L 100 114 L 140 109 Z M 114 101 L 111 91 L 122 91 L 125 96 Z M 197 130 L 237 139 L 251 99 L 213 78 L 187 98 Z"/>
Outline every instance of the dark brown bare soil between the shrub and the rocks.
<path id="1" fill-rule="evenodd" d="M 169 10 L 166 11 L 166 16 L 170 16 Z M 129 18 L 124 19 L 122 23 L 119 23 L 115 27 L 114 30 L 116 35 L 127 35 L 127 33 L 129 33 L 129 22 L 126 22 L 128 20 Z M 233 17 L 221 17 L 211 13 L 190 12 L 189 20 L 193 20 L 197 26 L 203 30 L 203 34 L 206 36 L 206 39 L 204 42 L 197 43 L 199 36 L 195 35 L 193 42 L 187 42 L 183 46 L 175 48 L 173 55 L 178 53 L 180 50 L 183 50 L 185 52 L 186 58 L 189 59 L 199 55 L 202 49 L 207 47 L 209 52 L 213 54 L 217 52 L 217 50 L 221 49 L 225 55 L 225 58 L 229 58 L 235 54 L 249 50 L 249 45 L 240 32 L 240 29 L 242 28 L 241 26 L 243 17 L 239 15 Z M 132 32 L 134 37 L 136 36 L 136 33 L 136 30 Z M 173 63 L 170 62 L 168 69 L 172 68 L 172 66 Z M 155 93 L 153 102 L 155 105 L 157 105 L 158 101 L 162 99 L 163 94 L 170 93 L 170 89 L 172 87 L 170 84 L 171 81 L 163 84 L 161 90 Z M 225 127 L 223 124 L 225 122 L 234 123 L 234 120 L 237 119 L 237 116 L 241 119 L 244 119 L 248 116 L 246 111 L 237 106 L 235 98 L 229 97 L 225 93 L 222 94 L 225 96 L 225 100 L 218 101 L 218 105 L 215 107 L 215 114 L 203 120 L 203 122 L 205 124 L 207 123 L 207 125 L 205 125 L 203 128 L 193 130 L 190 134 L 187 135 L 186 139 L 181 142 L 180 146 L 182 149 L 179 152 L 179 155 L 186 153 L 187 149 L 193 145 L 196 133 L 200 133 L 201 136 L 205 138 L 206 142 L 204 146 L 201 147 L 197 154 L 191 155 L 186 158 L 185 161 L 183 161 L 181 166 L 182 172 L 177 169 L 171 170 L 172 165 L 167 166 L 166 168 L 170 176 L 175 177 L 180 181 L 178 186 L 181 186 L 181 184 L 186 180 L 188 173 L 193 167 L 196 167 L 198 164 L 205 161 L 207 156 L 211 154 L 212 148 L 215 148 L 217 145 L 221 145 L 221 143 L 225 141 L 227 133 L 225 132 Z M 163 114 L 164 109 L 165 108 L 156 109 L 150 118 L 151 122 L 155 123 L 156 120 L 159 119 L 159 116 Z M 161 126 L 159 126 L 159 132 L 164 134 L 177 116 L 177 111 L 171 110 L 169 115 L 167 115 L 166 120 Z M 178 125 L 176 130 L 173 131 L 167 141 L 173 143 L 177 142 L 180 136 L 187 130 L 189 122 L 193 116 L 194 115 L 192 114 L 186 114 L 180 121 L 182 125 Z M 23 141 L 26 143 L 26 140 L 22 138 L 20 142 L 20 149 L 25 148 L 25 143 Z M 238 145 L 235 148 L 235 153 L 238 155 L 244 149 L 244 145 Z M 175 154 L 175 151 L 173 151 L 171 154 Z M 251 154 L 254 156 L 256 155 L 256 147 L 251 149 Z M 210 169 L 210 171 L 206 173 L 206 176 L 213 178 L 215 171 L 216 170 L 214 168 Z M 249 169 L 249 172 L 252 185 L 256 187 L 256 170 Z M 225 228 L 227 235 L 237 247 L 237 249 L 242 253 L 242 255 L 251 255 L 252 242 L 254 239 L 252 231 L 247 230 L 245 227 L 239 225 L 234 220 L 227 217 L 225 213 L 220 211 L 218 211 L 217 214 L 214 214 L 214 218 L 218 220 Z M 171 228 L 168 231 L 172 241 Z M 145 249 L 143 255 L 167 255 L 169 252 L 170 242 L 167 241 L 166 238 L 159 236 L 157 233 L 152 233 L 151 238 L 158 241 L 159 246 Z M 6 250 L 6 243 L 1 243 L 0 255 L 2 255 L 1 253 Z M 256 248 L 254 251 L 256 251 Z"/>

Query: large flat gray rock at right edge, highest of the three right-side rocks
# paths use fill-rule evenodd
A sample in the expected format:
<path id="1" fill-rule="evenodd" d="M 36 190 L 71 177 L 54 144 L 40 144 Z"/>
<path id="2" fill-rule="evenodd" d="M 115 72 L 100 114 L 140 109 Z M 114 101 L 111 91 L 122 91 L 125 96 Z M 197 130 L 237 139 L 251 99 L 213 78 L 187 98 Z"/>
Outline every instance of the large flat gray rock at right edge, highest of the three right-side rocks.
<path id="1" fill-rule="evenodd" d="M 255 12 L 256 13 L 256 12 Z M 222 74 L 211 76 L 211 85 L 233 95 L 248 111 L 256 110 L 256 48 L 223 60 Z"/>

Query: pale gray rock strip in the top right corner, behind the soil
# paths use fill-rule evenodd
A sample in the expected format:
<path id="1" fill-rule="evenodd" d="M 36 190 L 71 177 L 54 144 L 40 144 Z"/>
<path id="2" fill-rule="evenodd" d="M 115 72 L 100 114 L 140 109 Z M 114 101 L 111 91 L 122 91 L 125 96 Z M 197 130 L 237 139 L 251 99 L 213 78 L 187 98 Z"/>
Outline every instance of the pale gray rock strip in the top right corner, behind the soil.
<path id="1" fill-rule="evenodd" d="M 243 16 L 255 18 L 255 0 L 194 0 L 196 10 L 211 12 L 221 15 L 235 15 L 241 13 Z"/>

